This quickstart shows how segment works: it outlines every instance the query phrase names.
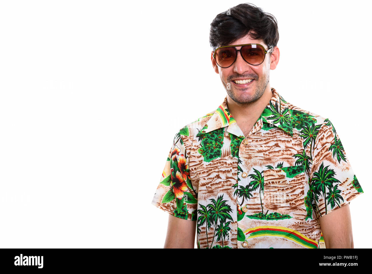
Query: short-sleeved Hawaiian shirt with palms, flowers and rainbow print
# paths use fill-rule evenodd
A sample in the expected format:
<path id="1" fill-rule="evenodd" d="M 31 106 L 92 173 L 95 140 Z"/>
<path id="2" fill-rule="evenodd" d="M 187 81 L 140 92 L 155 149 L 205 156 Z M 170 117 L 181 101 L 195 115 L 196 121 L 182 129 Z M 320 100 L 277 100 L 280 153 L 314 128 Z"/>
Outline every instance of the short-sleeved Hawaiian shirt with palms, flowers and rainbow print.
<path id="1" fill-rule="evenodd" d="M 227 96 L 174 136 L 152 204 L 198 248 L 325 248 L 319 218 L 363 193 L 331 121 L 271 91 L 248 136 Z"/>

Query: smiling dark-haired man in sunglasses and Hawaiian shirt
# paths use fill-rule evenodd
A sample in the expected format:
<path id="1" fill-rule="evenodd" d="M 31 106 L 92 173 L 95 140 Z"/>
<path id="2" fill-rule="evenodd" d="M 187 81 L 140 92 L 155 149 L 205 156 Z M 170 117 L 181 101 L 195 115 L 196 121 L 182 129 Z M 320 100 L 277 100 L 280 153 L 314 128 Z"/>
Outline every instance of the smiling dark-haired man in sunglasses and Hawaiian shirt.
<path id="1" fill-rule="evenodd" d="M 363 190 L 331 121 L 270 87 L 275 17 L 240 4 L 209 40 L 227 96 L 174 136 L 152 202 L 171 214 L 164 247 L 193 248 L 197 232 L 198 248 L 353 248 Z"/>

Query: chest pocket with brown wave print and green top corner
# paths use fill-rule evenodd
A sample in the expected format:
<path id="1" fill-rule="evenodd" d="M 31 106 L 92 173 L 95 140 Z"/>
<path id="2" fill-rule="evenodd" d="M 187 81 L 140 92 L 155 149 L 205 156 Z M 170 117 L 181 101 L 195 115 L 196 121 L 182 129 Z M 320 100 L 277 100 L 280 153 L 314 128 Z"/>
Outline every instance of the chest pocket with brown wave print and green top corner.
<path id="1" fill-rule="evenodd" d="M 267 169 L 263 171 L 263 177 L 264 208 L 280 214 L 289 214 L 304 206 L 307 184 L 304 165 Z"/>

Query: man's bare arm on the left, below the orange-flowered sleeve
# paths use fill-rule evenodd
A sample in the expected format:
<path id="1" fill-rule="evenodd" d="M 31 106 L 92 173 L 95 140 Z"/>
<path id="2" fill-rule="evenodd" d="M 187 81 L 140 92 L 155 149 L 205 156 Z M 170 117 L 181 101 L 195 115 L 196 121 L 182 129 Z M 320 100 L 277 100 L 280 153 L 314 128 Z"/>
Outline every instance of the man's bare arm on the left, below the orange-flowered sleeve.
<path id="1" fill-rule="evenodd" d="M 194 248 L 196 221 L 169 215 L 164 248 Z"/>

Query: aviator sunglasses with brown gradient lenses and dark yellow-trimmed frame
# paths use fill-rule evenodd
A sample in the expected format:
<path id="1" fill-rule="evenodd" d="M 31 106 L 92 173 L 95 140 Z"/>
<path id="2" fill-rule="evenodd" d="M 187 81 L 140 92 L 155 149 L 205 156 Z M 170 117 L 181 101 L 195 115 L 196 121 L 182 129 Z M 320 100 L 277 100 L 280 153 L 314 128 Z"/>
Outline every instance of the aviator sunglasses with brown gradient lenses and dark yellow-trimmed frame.
<path id="1" fill-rule="evenodd" d="M 241 46 L 240 50 L 236 47 Z M 271 45 L 269 50 L 260 44 L 243 44 L 243 45 L 231 45 L 217 48 L 213 53 L 213 58 L 216 60 L 218 66 L 222 68 L 230 67 L 236 61 L 238 51 L 244 61 L 253 66 L 262 64 L 265 60 L 266 53 L 272 51 L 274 47 Z"/>

